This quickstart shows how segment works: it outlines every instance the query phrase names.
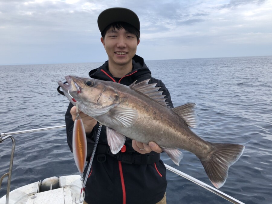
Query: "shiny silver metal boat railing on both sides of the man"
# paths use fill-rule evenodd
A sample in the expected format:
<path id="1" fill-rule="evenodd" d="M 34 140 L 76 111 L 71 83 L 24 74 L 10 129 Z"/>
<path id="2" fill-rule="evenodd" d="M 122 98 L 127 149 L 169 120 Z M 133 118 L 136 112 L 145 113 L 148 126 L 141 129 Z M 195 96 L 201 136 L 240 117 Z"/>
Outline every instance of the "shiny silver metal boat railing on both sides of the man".
<path id="1" fill-rule="evenodd" d="M 15 139 L 11 136 L 14 134 L 22 134 L 22 133 L 28 133 L 28 132 L 36 132 L 36 131 L 44 131 L 44 130 L 52 130 L 52 129 L 58 129 L 58 128 L 65 128 L 65 125 L 60 125 L 60 126 L 53 126 L 53 127 L 48 127 L 48 128 L 37 128 L 37 129 L 30 129 L 30 130 L 23 130 L 23 131 L 15 131 L 15 132 L 6 132 L 6 133 L 1 133 L 0 134 L 0 144 L 6 140 L 7 138 L 11 138 L 12 140 L 12 150 L 11 150 L 11 158 L 10 158 L 10 165 L 9 165 L 9 171 L 8 173 L 5 173 L 1 176 L 0 178 L 0 189 L 1 189 L 1 184 L 2 180 L 5 178 L 5 176 L 8 176 L 8 183 L 7 183 L 7 194 L 6 194 L 6 204 L 8 204 L 9 200 L 9 191 L 10 191 L 10 183 L 11 183 L 11 171 L 12 171 L 12 164 L 13 164 L 13 157 L 14 157 L 14 151 L 15 151 Z M 5 136 L 5 137 L 4 137 Z M 173 167 L 170 167 L 169 165 L 165 164 L 165 167 L 172 171 L 173 173 L 176 173 L 179 176 L 182 176 L 183 178 L 186 178 L 187 180 L 196 183 L 197 185 L 201 186 L 202 188 L 205 188 L 212 193 L 215 193 L 216 195 L 228 200 L 229 202 L 235 203 L 235 204 L 244 204 L 243 202 L 233 198 L 232 196 L 229 196 L 226 193 L 223 193 L 222 191 L 215 189 L 212 186 L 209 186 L 206 183 L 203 183 L 200 180 L 197 180 L 196 178 L 189 176 L 186 173 L 183 173 L 182 171 L 179 171 Z"/>

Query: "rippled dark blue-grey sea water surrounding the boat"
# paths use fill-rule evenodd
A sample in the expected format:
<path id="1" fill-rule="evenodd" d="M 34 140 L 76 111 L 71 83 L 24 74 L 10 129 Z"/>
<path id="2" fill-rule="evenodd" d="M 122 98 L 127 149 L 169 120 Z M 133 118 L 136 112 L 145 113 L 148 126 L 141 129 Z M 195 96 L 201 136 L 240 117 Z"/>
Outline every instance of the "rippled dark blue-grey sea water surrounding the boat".
<path id="1" fill-rule="evenodd" d="M 152 76 L 169 89 L 174 106 L 196 103 L 199 126 L 210 142 L 245 146 L 220 188 L 247 204 L 272 203 L 272 56 L 146 61 Z M 0 132 L 64 125 L 68 100 L 57 92 L 64 76 L 88 77 L 102 63 L 0 66 Z M 14 135 L 11 190 L 51 176 L 79 174 L 65 129 Z M 180 166 L 212 186 L 199 159 L 182 150 Z M 0 144 L 0 176 L 8 171 L 11 140 Z M 167 203 L 229 203 L 167 171 Z M 6 193 L 4 179 L 0 197 Z"/>

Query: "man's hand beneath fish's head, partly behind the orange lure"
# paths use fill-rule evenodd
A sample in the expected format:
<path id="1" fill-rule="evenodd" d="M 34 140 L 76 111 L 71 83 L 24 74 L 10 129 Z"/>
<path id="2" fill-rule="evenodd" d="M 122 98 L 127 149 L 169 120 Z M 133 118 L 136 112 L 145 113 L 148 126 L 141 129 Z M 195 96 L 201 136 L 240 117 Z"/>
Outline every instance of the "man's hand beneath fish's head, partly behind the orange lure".
<path id="1" fill-rule="evenodd" d="M 91 116 L 81 112 L 80 110 L 78 110 L 78 112 L 79 112 L 79 116 L 80 116 L 80 118 L 81 118 L 81 120 L 83 122 L 85 132 L 86 132 L 86 134 L 89 134 L 92 131 L 93 127 L 96 125 L 97 121 L 94 118 L 92 118 Z M 76 116 L 77 116 L 76 106 L 73 106 L 71 108 L 70 113 L 71 113 L 71 115 L 73 117 L 73 121 L 75 121 Z"/>

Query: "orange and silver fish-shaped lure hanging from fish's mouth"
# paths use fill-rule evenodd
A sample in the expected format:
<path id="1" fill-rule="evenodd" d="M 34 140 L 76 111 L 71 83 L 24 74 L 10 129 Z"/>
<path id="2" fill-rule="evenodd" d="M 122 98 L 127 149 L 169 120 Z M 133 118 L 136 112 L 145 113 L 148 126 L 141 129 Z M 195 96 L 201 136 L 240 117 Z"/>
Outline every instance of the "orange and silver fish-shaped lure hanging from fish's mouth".
<path id="1" fill-rule="evenodd" d="M 76 117 L 73 128 L 73 156 L 80 176 L 83 176 L 87 157 L 87 139 L 82 119 L 79 116 Z"/>

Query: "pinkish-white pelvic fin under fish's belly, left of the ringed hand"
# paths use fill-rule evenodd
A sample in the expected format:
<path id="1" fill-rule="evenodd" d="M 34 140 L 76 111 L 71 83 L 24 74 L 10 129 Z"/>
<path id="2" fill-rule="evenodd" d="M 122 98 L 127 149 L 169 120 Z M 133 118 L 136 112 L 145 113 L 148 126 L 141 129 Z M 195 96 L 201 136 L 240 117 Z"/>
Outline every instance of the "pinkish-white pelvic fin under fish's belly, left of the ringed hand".
<path id="1" fill-rule="evenodd" d="M 112 154 L 117 154 L 124 146 L 126 138 L 124 135 L 115 131 L 112 128 L 106 128 L 108 145 L 111 148 Z"/>

